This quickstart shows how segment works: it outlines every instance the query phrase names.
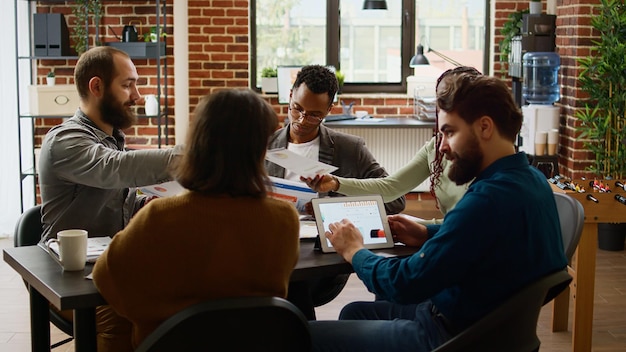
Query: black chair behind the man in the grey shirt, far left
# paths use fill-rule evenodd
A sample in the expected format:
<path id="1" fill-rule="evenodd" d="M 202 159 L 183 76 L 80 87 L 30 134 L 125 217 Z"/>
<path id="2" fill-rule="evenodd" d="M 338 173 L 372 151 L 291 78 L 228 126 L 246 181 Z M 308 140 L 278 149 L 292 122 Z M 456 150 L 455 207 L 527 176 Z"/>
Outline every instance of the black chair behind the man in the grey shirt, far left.
<path id="1" fill-rule="evenodd" d="M 41 205 L 36 205 L 24 211 L 18 219 L 15 226 L 13 246 L 22 247 L 36 245 L 39 243 L 39 240 L 41 240 L 42 233 L 43 225 L 41 223 Z M 26 284 L 26 288 L 30 290 L 28 284 Z M 58 311 L 50 309 L 50 321 L 54 324 L 54 326 L 59 328 L 59 330 L 70 336 L 65 340 L 54 343 L 50 346 L 51 349 L 64 345 L 74 339 L 73 323 L 61 316 Z"/>

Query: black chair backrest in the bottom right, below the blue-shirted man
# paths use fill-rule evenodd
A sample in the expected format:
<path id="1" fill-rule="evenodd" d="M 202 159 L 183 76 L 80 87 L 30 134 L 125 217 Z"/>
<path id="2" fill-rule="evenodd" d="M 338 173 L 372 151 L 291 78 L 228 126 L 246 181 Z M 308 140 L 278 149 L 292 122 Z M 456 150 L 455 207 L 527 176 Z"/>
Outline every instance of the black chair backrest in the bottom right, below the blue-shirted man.
<path id="1" fill-rule="evenodd" d="M 564 270 L 542 277 L 434 351 L 537 351 L 541 307 L 548 295 L 563 291 L 571 281 Z"/>

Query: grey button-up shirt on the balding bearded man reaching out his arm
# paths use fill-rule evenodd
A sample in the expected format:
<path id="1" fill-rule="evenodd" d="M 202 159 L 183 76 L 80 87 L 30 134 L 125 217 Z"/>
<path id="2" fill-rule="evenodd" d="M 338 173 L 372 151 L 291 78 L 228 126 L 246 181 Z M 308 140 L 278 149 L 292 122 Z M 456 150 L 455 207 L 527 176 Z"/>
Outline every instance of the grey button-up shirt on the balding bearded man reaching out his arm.
<path id="1" fill-rule="evenodd" d="M 117 129 L 104 133 L 80 109 L 46 134 L 39 160 L 43 241 L 70 228 L 113 236 L 143 205 L 135 187 L 171 179 L 178 146 L 125 151 L 124 138 Z"/>

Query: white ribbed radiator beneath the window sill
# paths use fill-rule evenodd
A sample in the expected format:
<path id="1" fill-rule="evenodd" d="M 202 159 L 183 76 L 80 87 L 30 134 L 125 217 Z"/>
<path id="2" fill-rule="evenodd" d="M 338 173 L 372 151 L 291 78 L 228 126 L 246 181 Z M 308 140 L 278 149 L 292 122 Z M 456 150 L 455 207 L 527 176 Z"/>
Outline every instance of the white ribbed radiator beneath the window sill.
<path id="1" fill-rule="evenodd" d="M 333 129 L 362 137 L 376 161 L 387 170 L 394 173 L 406 165 L 415 156 L 415 153 L 426 144 L 433 135 L 431 128 L 388 128 L 388 127 L 339 127 Z M 428 192 L 430 182 L 426 179 L 417 186 L 414 192 Z"/>

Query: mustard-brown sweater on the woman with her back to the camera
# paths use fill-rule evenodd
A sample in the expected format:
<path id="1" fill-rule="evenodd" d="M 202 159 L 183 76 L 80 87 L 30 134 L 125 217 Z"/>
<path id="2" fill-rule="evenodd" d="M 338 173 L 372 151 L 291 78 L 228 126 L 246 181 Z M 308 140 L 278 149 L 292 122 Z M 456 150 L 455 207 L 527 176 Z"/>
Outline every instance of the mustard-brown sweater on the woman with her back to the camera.
<path id="1" fill-rule="evenodd" d="M 96 287 L 133 324 L 136 347 L 165 319 L 207 299 L 286 297 L 298 261 L 295 208 L 272 198 L 155 199 L 94 266 Z"/>

